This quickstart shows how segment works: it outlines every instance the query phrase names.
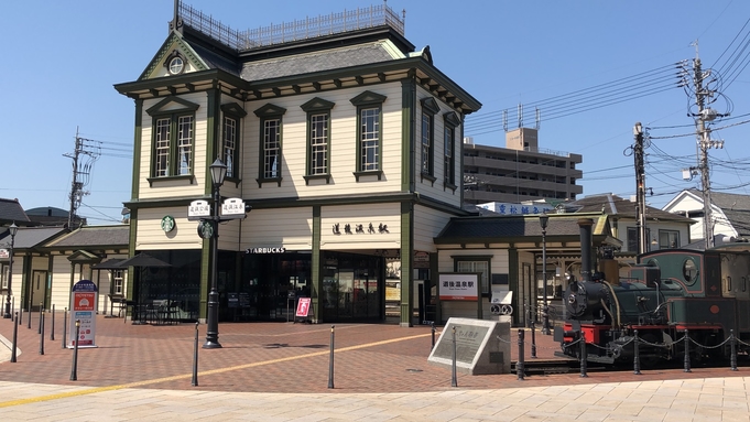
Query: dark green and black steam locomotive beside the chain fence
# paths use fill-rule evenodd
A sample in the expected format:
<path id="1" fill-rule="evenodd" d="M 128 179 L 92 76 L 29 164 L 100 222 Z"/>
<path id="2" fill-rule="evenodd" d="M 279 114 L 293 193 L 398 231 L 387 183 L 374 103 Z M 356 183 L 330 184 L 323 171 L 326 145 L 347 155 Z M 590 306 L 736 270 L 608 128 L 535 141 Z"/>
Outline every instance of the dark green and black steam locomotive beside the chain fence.
<path id="1" fill-rule="evenodd" d="M 750 244 L 705 251 L 667 249 L 639 256 L 629 277 L 570 282 L 564 326 L 555 327 L 558 355 L 588 361 L 633 361 L 638 333 L 642 365 L 680 359 L 689 336 L 689 358 L 728 358 L 733 333 L 738 353 L 750 342 Z M 635 332 L 638 331 L 638 332 Z M 744 349 L 744 350 L 743 350 Z"/>

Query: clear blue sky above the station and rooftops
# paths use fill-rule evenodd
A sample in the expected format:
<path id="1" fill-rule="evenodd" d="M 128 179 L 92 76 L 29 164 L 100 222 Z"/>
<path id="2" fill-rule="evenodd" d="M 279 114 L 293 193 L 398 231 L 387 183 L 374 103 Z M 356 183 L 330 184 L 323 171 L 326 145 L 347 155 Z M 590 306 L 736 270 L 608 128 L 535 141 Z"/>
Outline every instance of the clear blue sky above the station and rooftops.
<path id="1" fill-rule="evenodd" d="M 378 0 L 184 0 L 247 30 L 381 4 Z M 508 129 L 535 127 L 539 145 L 581 154 L 584 194 L 635 194 L 633 126 L 648 128 L 646 202 L 662 207 L 700 177 L 691 94 L 678 87 L 699 55 L 717 76 L 710 107 L 721 149 L 709 150 L 711 188 L 750 194 L 750 2 L 595 0 L 389 0 L 405 10 L 406 39 L 430 45 L 435 66 L 482 104 L 466 118 L 475 143 L 504 147 Z M 0 71 L 0 197 L 24 209 L 69 208 L 76 136 L 100 145 L 78 214 L 121 219 L 130 199 L 133 100 L 115 84 L 135 80 L 167 36 L 173 0 L 6 2 Z M 748 26 L 746 26 L 748 25 Z M 696 47 L 697 40 L 697 47 Z M 45 62 L 40 66 L 37 62 Z M 708 80 L 709 78 L 707 78 Z M 689 84 L 688 84 L 689 85 Z M 694 99 L 694 98 L 693 98 Z M 88 156 L 86 156 L 88 159 Z"/>

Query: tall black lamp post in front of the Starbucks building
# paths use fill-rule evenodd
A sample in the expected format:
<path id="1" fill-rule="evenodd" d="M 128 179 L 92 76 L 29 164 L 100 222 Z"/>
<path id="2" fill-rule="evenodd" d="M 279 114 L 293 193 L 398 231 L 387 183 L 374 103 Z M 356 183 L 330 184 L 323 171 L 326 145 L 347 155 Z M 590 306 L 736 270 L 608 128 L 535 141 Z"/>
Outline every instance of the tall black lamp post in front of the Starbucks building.
<path id="1" fill-rule="evenodd" d="M 211 241 L 211 290 L 208 292 L 208 318 L 206 322 L 206 343 L 203 348 L 213 349 L 220 348 L 219 344 L 219 292 L 217 290 L 218 282 L 218 259 L 219 259 L 219 190 L 224 184 L 224 177 L 227 175 L 227 165 L 221 160 L 216 159 L 214 164 L 209 166 L 211 171 L 211 191 L 214 194 L 214 207 L 211 208 L 211 225 L 214 228 L 214 236 Z"/>

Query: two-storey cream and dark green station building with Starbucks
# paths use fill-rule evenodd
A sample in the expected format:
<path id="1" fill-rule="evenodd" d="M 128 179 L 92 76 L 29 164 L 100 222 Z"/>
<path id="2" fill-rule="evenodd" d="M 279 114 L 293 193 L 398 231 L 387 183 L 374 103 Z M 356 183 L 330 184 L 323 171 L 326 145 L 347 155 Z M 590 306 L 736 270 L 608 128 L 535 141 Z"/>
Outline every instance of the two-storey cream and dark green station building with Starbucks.
<path id="1" fill-rule="evenodd" d="M 414 323 L 433 237 L 466 214 L 460 140 L 480 104 L 384 4 L 301 25 L 239 33 L 180 2 L 142 75 L 116 85 L 135 106 L 130 256 L 171 264 L 134 272 L 129 297 L 205 316 L 218 241 L 221 321 L 289 318 L 302 295 L 314 322 L 384 321 L 395 302 L 400 324 Z M 188 207 L 218 205 L 217 159 L 221 198 L 252 212 L 203 239 Z"/>

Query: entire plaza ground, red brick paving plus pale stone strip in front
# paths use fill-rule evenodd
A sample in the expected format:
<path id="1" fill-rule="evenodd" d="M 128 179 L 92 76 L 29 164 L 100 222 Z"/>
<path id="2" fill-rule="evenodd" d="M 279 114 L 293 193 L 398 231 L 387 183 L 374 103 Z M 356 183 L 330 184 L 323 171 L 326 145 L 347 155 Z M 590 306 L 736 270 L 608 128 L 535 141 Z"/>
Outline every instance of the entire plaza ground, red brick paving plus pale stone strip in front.
<path id="1" fill-rule="evenodd" d="M 17 363 L 0 344 L 1 421 L 750 420 L 746 365 L 738 371 L 598 371 L 587 378 L 573 371 L 525 380 L 458 374 L 458 387 L 450 387 L 450 371 L 427 364 L 426 326 L 336 324 L 328 388 L 330 325 L 220 324 L 224 347 L 199 348 L 194 387 L 195 324 L 131 325 L 99 316 L 98 347 L 78 350 L 72 381 L 62 315 L 55 340 L 45 333 L 43 350 L 35 317 L 31 329 L 26 321 L 19 327 Z M 0 339 L 12 338 L 12 329 L 0 320 Z M 205 325 L 197 334 L 202 345 Z M 510 340 L 515 359 L 517 340 Z M 537 359 L 557 349 L 551 336 L 537 335 L 536 345 Z"/>

